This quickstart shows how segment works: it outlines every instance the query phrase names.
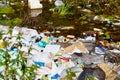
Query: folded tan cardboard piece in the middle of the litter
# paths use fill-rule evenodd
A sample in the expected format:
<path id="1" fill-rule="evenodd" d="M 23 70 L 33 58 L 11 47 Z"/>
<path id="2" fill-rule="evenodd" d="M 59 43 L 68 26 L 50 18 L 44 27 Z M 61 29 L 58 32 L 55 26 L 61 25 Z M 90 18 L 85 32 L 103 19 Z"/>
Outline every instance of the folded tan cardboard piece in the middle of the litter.
<path id="1" fill-rule="evenodd" d="M 65 51 L 72 53 L 75 48 L 79 49 L 83 53 L 88 53 L 88 50 L 85 48 L 85 46 L 82 42 L 73 43 L 71 46 L 66 47 Z"/>

